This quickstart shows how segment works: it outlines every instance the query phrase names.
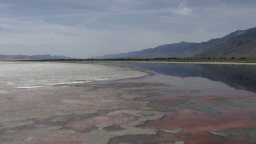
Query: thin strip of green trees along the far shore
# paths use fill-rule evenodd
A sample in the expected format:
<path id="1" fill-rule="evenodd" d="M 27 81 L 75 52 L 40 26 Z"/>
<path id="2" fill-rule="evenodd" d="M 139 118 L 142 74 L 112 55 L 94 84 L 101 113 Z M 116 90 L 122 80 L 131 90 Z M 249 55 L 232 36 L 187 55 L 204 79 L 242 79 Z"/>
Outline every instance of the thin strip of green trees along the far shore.
<path id="1" fill-rule="evenodd" d="M 109 59 L 44 59 L 44 60 L 23 60 L 23 61 L 169 61 L 169 62 L 256 62 L 256 58 L 109 58 Z"/>

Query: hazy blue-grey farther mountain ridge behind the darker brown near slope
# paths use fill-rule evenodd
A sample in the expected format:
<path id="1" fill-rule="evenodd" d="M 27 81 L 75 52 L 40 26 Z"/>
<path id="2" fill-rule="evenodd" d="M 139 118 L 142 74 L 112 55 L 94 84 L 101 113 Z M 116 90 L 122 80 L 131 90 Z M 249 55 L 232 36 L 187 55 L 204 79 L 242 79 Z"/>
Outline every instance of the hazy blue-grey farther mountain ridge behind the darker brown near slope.
<path id="1" fill-rule="evenodd" d="M 135 52 L 128 52 L 128 53 L 121 53 L 121 54 L 111 54 L 111 55 L 105 55 L 105 56 L 98 56 L 98 57 L 92 57 L 97 59 L 103 59 L 103 58 L 169 58 L 169 57 L 180 57 L 180 58 L 186 58 L 186 57 L 206 57 L 204 56 L 204 53 L 207 50 L 210 50 L 214 47 L 217 47 L 221 44 L 225 44 L 226 42 L 229 42 L 230 40 L 242 36 L 244 34 L 250 33 L 251 31 L 255 30 L 256 27 L 250 28 L 248 30 L 237 30 L 236 32 L 232 32 L 222 38 L 216 38 L 209 40 L 207 42 L 201 42 L 201 43 L 189 43 L 189 42 L 180 42 L 175 44 L 165 44 L 162 46 L 157 46 L 156 48 L 148 48 L 140 51 Z M 230 44 L 228 44 L 230 45 Z M 252 44 L 254 45 L 254 44 Z M 231 47 L 229 47 L 231 48 Z M 230 50 L 229 50 L 230 51 Z M 201 54 L 202 55 L 199 55 Z M 250 53 L 250 52 L 248 52 Z M 248 55 L 248 54 L 244 54 Z M 243 55 L 243 56 L 244 56 Z M 236 56 L 240 56 L 237 54 Z M 249 57 L 248 55 L 247 57 Z M 215 57 L 212 55 L 211 57 Z M 242 57 L 242 56 L 241 56 Z"/>

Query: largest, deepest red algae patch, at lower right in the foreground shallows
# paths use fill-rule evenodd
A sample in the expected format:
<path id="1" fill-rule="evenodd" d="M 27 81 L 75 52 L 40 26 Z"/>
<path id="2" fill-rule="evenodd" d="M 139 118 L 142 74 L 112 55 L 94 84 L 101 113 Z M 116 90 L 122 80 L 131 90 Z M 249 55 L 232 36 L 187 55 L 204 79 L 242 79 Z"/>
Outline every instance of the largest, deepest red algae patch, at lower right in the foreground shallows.
<path id="1" fill-rule="evenodd" d="M 143 127 L 179 129 L 196 133 L 256 126 L 256 122 L 251 120 L 250 112 L 235 110 L 222 110 L 222 112 L 224 112 L 224 115 L 211 117 L 200 111 L 182 110 L 166 114 L 165 118 L 150 121 Z"/>

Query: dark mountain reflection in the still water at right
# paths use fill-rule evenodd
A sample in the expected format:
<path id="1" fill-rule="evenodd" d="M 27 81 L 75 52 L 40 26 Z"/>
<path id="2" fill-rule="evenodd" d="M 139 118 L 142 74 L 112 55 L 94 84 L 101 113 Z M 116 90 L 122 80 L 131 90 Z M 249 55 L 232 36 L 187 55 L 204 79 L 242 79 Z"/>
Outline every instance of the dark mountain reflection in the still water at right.
<path id="1" fill-rule="evenodd" d="M 159 64 L 159 63 L 130 63 L 146 70 L 164 75 L 186 77 L 202 77 L 223 82 L 238 90 L 248 90 L 256 93 L 255 65 L 227 64 Z"/>

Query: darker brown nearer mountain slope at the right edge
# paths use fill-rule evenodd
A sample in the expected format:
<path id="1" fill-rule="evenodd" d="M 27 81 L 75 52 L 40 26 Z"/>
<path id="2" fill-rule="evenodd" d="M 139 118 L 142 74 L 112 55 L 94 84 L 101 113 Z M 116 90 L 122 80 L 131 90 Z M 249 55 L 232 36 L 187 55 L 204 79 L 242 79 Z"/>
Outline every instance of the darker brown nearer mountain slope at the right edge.
<path id="1" fill-rule="evenodd" d="M 256 57 L 256 28 L 194 57 Z"/>

